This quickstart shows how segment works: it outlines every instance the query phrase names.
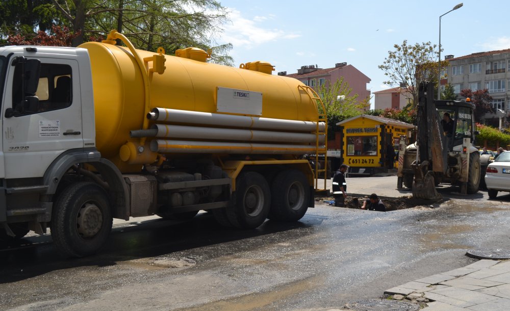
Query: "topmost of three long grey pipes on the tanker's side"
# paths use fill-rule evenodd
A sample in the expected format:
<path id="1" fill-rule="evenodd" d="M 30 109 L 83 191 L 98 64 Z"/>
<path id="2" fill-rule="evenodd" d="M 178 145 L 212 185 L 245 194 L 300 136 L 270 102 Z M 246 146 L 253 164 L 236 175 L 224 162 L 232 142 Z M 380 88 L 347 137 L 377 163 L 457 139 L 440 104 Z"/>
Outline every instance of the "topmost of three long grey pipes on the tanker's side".
<path id="1" fill-rule="evenodd" d="M 237 116 L 166 108 L 152 109 L 152 111 L 147 114 L 147 119 L 166 123 L 190 123 L 220 126 L 228 124 L 228 126 L 232 127 L 267 128 L 299 132 L 316 131 L 316 122 L 313 121 Z M 319 131 L 324 132 L 324 130 L 324 122 L 319 122 Z"/>

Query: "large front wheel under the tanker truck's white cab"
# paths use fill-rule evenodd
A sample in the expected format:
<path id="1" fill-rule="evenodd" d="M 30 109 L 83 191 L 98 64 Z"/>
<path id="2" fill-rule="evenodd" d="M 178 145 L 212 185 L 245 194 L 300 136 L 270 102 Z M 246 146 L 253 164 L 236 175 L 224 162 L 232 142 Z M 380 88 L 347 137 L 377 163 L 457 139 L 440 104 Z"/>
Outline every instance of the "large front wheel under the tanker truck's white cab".
<path id="1" fill-rule="evenodd" d="M 88 182 L 67 187 L 54 205 L 52 238 L 65 255 L 82 257 L 97 252 L 112 228 L 105 190 Z"/>

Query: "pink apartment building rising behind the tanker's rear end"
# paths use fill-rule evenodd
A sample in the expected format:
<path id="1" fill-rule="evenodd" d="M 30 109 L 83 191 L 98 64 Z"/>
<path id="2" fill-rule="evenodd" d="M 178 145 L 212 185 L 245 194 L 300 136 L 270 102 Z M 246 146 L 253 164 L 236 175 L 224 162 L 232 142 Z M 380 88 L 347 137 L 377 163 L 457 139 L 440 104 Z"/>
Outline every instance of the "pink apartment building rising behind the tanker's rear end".
<path id="1" fill-rule="evenodd" d="M 312 88 L 325 83 L 334 84 L 337 79 L 343 77 L 344 82 L 347 82 L 352 88 L 349 96 L 358 94 L 357 99 L 359 101 L 370 96 L 370 90 L 367 90 L 367 84 L 371 81 L 370 78 L 354 66 L 347 65 L 347 63 L 337 63 L 335 67 L 325 69 L 319 68 L 317 65 L 301 66 L 297 73 L 287 74 L 287 71 L 282 71 L 278 72 L 278 75 L 293 77 Z"/>

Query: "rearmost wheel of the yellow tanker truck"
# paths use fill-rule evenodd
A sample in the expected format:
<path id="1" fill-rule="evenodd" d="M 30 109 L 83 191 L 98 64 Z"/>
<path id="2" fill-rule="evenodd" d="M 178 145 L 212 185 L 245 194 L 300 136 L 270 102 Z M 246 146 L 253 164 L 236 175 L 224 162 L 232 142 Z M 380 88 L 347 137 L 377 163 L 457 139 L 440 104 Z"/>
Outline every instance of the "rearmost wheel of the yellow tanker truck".
<path id="1" fill-rule="evenodd" d="M 310 186 L 307 177 L 298 170 L 285 170 L 271 185 L 270 219 L 298 221 L 308 210 Z"/>

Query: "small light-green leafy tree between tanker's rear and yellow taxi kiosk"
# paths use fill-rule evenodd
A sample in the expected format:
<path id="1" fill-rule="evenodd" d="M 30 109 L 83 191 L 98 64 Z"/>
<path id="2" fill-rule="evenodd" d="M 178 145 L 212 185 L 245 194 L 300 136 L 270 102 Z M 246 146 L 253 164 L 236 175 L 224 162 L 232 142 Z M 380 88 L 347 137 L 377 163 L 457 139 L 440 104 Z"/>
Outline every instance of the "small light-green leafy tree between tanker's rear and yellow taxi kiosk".
<path id="1" fill-rule="evenodd" d="M 343 77 L 337 79 L 333 85 L 326 82 L 318 86 L 316 91 L 326 109 L 328 139 L 334 139 L 333 135 L 335 131 L 337 131 L 336 123 L 361 114 L 361 111 L 363 111 L 367 105 L 370 107 L 370 103 L 367 99 L 362 101 L 356 100 L 358 99 L 358 94 L 349 96 L 352 88 L 349 86 L 349 83 L 344 81 Z M 338 100 L 339 95 L 343 96 L 340 100 Z"/>

